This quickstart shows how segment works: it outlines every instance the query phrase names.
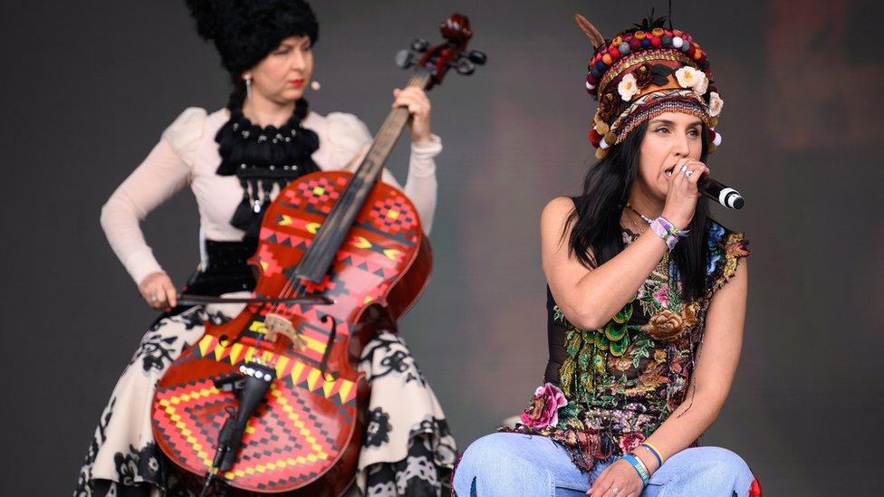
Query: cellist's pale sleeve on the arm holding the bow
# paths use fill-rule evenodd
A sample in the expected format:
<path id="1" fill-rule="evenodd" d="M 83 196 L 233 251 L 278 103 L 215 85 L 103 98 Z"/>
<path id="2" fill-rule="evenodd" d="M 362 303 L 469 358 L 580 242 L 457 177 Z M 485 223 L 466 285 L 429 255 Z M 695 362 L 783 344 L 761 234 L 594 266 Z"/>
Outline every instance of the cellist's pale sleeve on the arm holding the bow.
<path id="1" fill-rule="evenodd" d="M 101 207 L 101 228 L 136 284 L 148 274 L 162 271 L 139 224 L 150 211 L 187 185 L 206 117 L 203 109 L 182 112 L 163 132 L 148 157 Z"/>

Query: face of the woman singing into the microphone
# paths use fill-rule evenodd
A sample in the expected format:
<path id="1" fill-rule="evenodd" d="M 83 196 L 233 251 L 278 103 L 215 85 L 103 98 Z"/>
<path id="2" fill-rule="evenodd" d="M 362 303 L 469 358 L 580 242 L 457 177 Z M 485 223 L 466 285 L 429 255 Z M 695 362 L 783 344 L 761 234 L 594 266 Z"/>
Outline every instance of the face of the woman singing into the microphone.
<path id="1" fill-rule="evenodd" d="M 666 200 L 669 177 L 683 158 L 699 160 L 703 154 L 703 123 L 682 112 L 667 112 L 648 121 L 639 154 L 639 181 L 649 195 Z"/>

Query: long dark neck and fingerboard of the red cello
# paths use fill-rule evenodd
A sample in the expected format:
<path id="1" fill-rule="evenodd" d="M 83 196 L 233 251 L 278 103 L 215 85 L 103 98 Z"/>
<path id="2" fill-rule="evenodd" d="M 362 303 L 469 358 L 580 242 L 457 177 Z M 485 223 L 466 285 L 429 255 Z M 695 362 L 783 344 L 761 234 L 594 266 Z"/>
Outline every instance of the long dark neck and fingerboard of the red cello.
<path id="1" fill-rule="evenodd" d="M 432 77 L 432 73 L 427 69 L 418 67 L 408 81 L 408 86 L 426 89 Z M 313 243 L 303 254 L 301 263 L 298 263 L 294 269 L 291 277 L 293 280 L 303 279 L 311 282 L 322 280 L 344 237 L 350 231 L 353 221 L 359 215 L 371 188 L 380 179 L 384 164 L 408 122 L 408 116 L 408 109 L 403 107 L 389 111 L 365 158 L 353 173 L 341 197 L 331 208 L 331 212 L 313 238 Z"/>

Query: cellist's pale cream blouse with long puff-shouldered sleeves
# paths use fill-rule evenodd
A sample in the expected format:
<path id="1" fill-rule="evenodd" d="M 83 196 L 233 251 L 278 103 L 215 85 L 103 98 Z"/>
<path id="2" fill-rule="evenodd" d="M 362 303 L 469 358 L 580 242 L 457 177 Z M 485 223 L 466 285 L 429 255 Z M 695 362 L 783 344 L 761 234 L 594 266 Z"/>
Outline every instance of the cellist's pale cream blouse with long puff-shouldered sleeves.
<path id="1" fill-rule="evenodd" d="M 236 206 L 243 198 L 243 187 L 235 176 L 218 176 L 221 163 L 215 135 L 230 119 L 226 109 L 207 114 L 191 107 L 181 113 L 144 162 L 120 184 L 101 208 L 101 227 L 113 252 L 132 279 L 139 283 L 162 267 L 144 240 L 139 223 L 181 188 L 190 185 L 199 206 L 201 239 L 222 242 L 242 240 L 243 232 L 230 225 Z M 359 166 L 371 144 L 371 134 L 352 114 L 332 112 L 321 116 L 311 112 L 303 127 L 319 135 L 320 147 L 312 158 L 321 169 L 352 171 Z M 442 141 L 433 135 L 427 142 L 411 144 L 408 179 L 402 188 L 384 169 L 382 180 L 403 189 L 414 202 L 424 232 L 429 234 L 436 210 L 436 163 Z M 276 195 L 276 189 L 272 195 Z"/>

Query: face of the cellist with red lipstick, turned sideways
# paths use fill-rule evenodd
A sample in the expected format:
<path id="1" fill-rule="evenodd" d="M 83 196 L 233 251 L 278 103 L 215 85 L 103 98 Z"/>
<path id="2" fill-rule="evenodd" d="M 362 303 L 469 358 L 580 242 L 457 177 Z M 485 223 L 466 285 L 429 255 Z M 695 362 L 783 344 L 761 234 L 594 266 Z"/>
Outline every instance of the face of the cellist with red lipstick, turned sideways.
<path id="1" fill-rule="evenodd" d="M 255 67 L 244 72 L 252 76 L 252 93 L 284 104 L 298 100 L 310 84 L 313 52 L 310 38 L 290 36 Z"/>

